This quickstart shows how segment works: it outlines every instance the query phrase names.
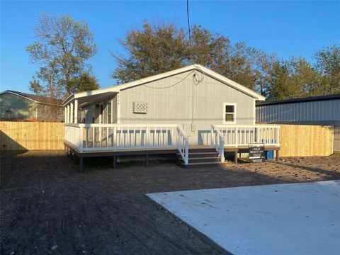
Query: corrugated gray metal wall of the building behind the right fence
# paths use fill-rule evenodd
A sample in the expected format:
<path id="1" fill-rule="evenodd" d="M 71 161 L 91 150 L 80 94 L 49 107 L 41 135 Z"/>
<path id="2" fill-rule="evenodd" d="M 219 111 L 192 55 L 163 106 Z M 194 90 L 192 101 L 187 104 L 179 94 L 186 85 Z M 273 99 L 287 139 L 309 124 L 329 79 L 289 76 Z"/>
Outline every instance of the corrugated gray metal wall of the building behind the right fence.
<path id="1" fill-rule="evenodd" d="M 256 122 L 333 125 L 340 123 L 340 99 L 256 106 Z"/>

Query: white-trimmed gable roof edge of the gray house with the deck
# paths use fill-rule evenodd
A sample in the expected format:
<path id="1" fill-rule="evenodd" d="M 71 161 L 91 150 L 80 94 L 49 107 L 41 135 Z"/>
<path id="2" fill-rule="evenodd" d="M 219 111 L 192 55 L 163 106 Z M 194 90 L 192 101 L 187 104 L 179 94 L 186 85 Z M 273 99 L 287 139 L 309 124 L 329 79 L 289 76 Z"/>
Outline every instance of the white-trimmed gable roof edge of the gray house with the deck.
<path id="1" fill-rule="evenodd" d="M 227 84 L 229 86 L 231 86 L 234 89 L 237 89 L 238 91 L 242 91 L 244 94 L 251 96 L 252 98 L 255 98 L 256 100 L 259 101 L 263 101 L 266 98 L 264 96 L 261 96 L 260 94 L 256 93 L 255 91 L 252 91 L 251 89 L 246 88 L 245 86 L 242 86 L 241 84 L 238 84 L 235 81 L 232 81 L 231 79 L 228 79 L 224 76 L 222 76 L 221 74 L 217 74 L 217 72 L 213 72 L 210 69 L 201 66 L 200 64 L 193 64 L 187 67 L 182 67 L 179 69 L 175 69 L 169 72 L 164 72 L 162 74 L 157 74 L 157 75 L 153 75 L 151 77 L 146 77 L 143 79 L 138 79 L 136 81 L 131 81 L 128 82 L 126 84 L 120 84 L 120 85 L 116 85 L 116 86 L 111 86 L 108 87 L 106 89 L 96 89 L 93 91 L 86 91 L 86 92 L 79 92 L 76 94 L 73 94 L 71 96 L 69 96 L 65 101 L 64 101 L 64 105 L 67 104 L 69 101 L 72 101 L 75 98 L 81 98 L 84 96 L 94 96 L 94 95 L 98 95 L 98 94 L 103 94 L 103 93 L 119 93 L 119 91 L 123 90 L 123 89 L 128 89 L 130 87 L 133 86 L 139 86 L 142 84 L 146 84 L 148 82 L 151 81 L 157 81 L 158 79 L 164 79 L 166 77 L 171 77 L 173 75 L 176 74 L 181 74 L 183 72 L 188 72 L 188 71 L 193 71 L 196 70 L 198 72 L 202 72 L 205 75 L 208 75 L 209 77 L 212 77 L 213 79 L 216 79 L 224 84 Z"/>

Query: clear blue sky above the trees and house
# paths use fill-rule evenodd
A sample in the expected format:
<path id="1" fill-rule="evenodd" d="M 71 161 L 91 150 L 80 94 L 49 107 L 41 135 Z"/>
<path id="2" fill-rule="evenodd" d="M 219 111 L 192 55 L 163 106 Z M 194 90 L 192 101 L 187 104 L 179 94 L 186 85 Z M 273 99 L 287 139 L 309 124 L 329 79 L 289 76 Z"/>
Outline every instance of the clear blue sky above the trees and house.
<path id="1" fill-rule="evenodd" d="M 174 21 L 186 27 L 186 1 L 1 1 L 1 91 L 29 91 L 38 66 L 25 47 L 42 11 L 84 19 L 94 32 L 98 52 L 89 60 L 102 88 L 112 86 L 117 42 L 144 19 Z M 232 42 L 279 57 L 312 54 L 340 42 L 339 1 L 190 1 L 191 24 L 227 35 Z"/>

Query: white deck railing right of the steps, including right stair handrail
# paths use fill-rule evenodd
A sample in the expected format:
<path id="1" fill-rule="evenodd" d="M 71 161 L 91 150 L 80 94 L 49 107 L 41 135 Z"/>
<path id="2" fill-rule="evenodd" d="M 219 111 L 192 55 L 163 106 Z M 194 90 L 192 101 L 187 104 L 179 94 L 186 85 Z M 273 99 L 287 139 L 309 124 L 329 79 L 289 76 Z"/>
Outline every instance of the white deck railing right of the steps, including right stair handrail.
<path id="1" fill-rule="evenodd" d="M 224 147 L 242 147 L 250 144 L 280 146 L 279 125 L 212 125 L 211 146 L 224 157 Z"/>

